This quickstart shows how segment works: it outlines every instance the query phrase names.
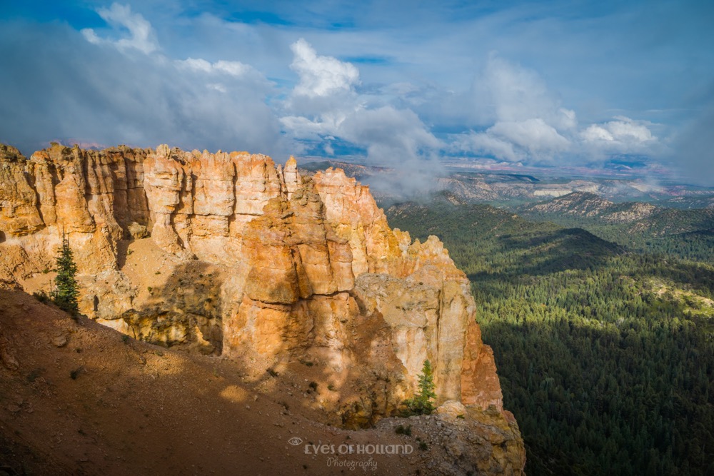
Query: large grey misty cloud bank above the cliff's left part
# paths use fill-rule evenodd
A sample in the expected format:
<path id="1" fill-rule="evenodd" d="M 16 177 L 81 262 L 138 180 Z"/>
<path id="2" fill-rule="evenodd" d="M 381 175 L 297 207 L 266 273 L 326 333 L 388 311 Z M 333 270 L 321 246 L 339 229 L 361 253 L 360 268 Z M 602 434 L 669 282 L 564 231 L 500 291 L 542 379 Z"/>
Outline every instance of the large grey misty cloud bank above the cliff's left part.
<path id="1" fill-rule="evenodd" d="M 176 61 L 156 51 L 151 24 L 128 6 L 114 4 L 98 13 L 114 22 L 114 29 L 80 33 L 60 22 L 0 29 L 0 56 L 16 70 L 11 78 L 0 78 L 7 107 L 15 111 L 14 122 L 2 131 L 18 137 L 24 151 L 76 138 L 276 157 L 290 152 L 266 100 L 271 83 L 254 76 L 251 66 Z"/>

